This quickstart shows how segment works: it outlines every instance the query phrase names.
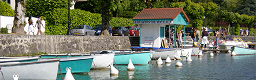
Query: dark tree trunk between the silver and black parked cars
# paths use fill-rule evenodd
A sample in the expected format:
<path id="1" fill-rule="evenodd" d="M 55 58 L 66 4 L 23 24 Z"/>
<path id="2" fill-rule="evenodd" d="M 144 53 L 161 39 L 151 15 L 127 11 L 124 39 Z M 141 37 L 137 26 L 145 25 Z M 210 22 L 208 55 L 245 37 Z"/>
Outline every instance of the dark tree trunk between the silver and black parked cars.
<path id="1" fill-rule="evenodd" d="M 106 3 L 109 2 L 109 0 L 104 0 Z M 109 21 L 112 19 L 112 14 L 110 12 L 110 7 L 102 4 L 102 29 L 101 29 L 101 35 L 102 36 L 108 36 L 109 35 Z"/>

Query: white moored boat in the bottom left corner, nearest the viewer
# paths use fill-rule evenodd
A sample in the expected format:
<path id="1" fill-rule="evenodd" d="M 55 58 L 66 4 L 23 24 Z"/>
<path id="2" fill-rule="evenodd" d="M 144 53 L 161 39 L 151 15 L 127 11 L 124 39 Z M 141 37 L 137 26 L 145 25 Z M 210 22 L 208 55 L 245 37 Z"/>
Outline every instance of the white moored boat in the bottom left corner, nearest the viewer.
<path id="1" fill-rule="evenodd" d="M 12 63 L 12 64 L 10 64 Z M 45 60 L 39 62 L 1 63 L 0 79 L 13 79 L 18 74 L 18 79 L 53 79 L 57 78 L 59 60 Z"/>

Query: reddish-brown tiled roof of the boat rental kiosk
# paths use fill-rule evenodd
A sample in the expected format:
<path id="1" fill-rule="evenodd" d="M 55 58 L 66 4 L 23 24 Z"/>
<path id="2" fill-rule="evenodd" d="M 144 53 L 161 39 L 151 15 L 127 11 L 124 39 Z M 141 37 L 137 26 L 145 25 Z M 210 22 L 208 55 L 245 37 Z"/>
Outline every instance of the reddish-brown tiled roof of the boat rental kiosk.
<path id="1" fill-rule="evenodd" d="M 155 20 L 155 19 L 172 19 L 174 20 L 178 14 L 184 14 L 187 22 L 190 22 L 182 7 L 161 8 L 161 9 L 143 9 L 132 20 Z"/>

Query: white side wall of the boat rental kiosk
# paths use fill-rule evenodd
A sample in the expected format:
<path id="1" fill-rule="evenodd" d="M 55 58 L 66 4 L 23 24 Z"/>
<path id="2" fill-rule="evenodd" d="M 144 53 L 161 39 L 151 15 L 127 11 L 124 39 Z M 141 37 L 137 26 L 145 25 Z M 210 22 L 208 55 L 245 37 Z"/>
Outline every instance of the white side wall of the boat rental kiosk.
<path id="1" fill-rule="evenodd" d="M 165 26 L 165 24 L 142 24 L 141 47 L 161 47 L 161 26 Z"/>

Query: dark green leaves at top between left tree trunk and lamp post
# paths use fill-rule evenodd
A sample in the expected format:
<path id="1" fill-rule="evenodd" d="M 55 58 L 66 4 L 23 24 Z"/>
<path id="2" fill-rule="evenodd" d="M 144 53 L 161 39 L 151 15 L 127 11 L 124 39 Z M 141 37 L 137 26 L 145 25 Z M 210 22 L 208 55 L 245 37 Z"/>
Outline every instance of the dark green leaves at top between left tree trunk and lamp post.
<path id="1" fill-rule="evenodd" d="M 26 0 L 26 16 L 45 16 L 58 8 L 68 9 L 67 0 Z"/>

